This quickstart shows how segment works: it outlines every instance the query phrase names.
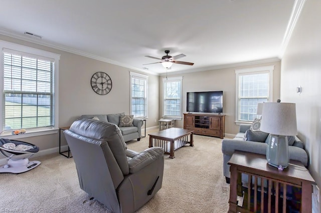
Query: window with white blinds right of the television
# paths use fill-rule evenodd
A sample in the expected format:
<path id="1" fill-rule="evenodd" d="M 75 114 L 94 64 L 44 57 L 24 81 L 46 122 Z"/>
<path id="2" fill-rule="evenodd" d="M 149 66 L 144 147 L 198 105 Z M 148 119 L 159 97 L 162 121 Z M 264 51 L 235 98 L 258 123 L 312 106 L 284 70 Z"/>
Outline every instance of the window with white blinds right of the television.
<path id="1" fill-rule="evenodd" d="M 237 69 L 236 73 L 236 122 L 252 121 L 257 104 L 272 100 L 274 66 Z"/>

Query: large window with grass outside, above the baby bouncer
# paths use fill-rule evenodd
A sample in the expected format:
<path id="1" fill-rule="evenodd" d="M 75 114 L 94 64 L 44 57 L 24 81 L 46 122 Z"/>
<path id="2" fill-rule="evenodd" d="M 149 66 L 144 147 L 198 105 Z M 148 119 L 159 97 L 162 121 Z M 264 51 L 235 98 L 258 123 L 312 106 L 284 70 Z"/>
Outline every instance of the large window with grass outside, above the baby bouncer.
<path id="1" fill-rule="evenodd" d="M 9 42 L 2 46 L 2 130 L 58 128 L 59 55 Z M 44 133 L 44 132 L 43 132 Z M 32 135 L 29 135 L 32 136 Z"/>

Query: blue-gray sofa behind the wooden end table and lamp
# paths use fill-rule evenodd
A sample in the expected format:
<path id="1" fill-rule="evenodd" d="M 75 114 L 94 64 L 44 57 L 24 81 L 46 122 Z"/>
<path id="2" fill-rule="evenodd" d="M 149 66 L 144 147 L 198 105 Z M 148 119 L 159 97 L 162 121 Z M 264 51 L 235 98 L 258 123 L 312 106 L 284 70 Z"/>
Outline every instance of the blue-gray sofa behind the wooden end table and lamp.
<path id="1" fill-rule="evenodd" d="M 244 140 L 244 134 L 246 130 L 250 128 L 251 124 L 241 124 L 240 130 L 236 134 L 235 138 L 228 139 L 224 138 L 222 140 L 222 152 L 223 152 L 223 171 L 224 176 L 226 178 L 226 182 L 229 183 L 230 181 L 230 165 L 228 165 L 228 161 L 230 160 L 233 152 L 235 150 L 240 151 L 248 151 L 258 154 L 266 154 L 267 148 L 267 140 L 268 140 L 268 133 L 266 133 L 266 138 L 262 141 L 251 141 L 251 140 Z M 252 136 L 252 138 L 258 138 L 261 136 Z M 264 135 L 263 135 L 264 137 Z M 293 140 L 289 142 L 289 158 L 292 160 L 301 161 L 304 166 L 308 164 L 308 156 L 306 151 L 304 150 L 304 145 L 298 137 L 293 136 Z M 243 178 L 242 178 L 243 179 Z"/>

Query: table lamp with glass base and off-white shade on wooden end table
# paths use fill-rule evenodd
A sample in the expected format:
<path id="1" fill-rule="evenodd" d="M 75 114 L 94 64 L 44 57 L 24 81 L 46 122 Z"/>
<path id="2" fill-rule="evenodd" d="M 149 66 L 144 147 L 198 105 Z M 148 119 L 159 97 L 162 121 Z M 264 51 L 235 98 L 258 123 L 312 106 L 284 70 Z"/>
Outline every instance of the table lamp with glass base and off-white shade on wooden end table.
<path id="1" fill-rule="evenodd" d="M 261 131 L 270 133 L 266 160 L 280 170 L 289 164 L 287 135 L 296 135 L 295 103 L 264 102 Z"/>

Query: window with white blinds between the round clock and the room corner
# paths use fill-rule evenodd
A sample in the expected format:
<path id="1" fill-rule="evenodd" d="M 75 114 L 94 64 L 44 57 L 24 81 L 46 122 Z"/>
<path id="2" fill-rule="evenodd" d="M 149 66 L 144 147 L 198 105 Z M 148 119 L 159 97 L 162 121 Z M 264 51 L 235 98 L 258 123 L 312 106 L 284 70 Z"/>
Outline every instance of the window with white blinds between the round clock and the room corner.
<path id="1" fill-rule="evenodd" d="M 148 76 L 130 72 L 130 113 L 134 117 L 147 117 Z"/>

